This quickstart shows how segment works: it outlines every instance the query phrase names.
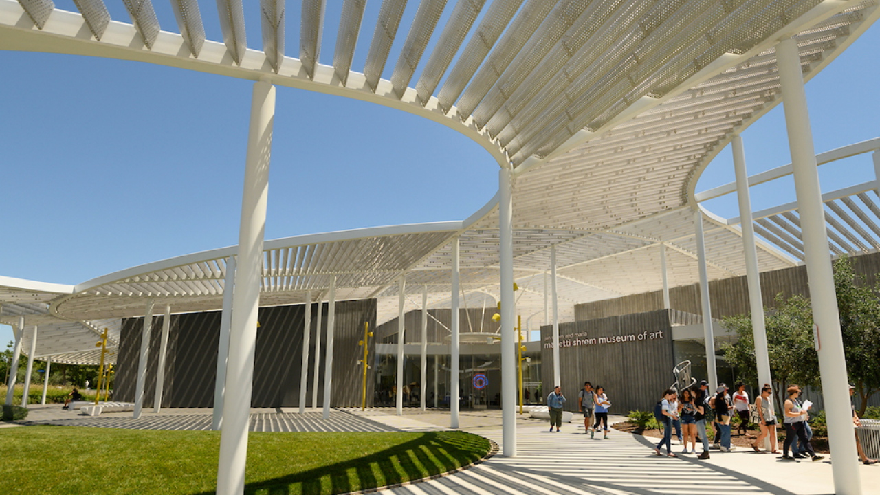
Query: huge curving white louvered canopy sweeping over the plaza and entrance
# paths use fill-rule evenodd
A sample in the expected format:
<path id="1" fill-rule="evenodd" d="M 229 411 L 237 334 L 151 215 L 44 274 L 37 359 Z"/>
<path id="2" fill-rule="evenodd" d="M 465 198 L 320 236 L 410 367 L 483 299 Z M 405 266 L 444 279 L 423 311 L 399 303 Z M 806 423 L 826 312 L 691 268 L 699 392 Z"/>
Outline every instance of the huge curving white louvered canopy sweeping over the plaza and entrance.
<path id="1" fill-rule="evenodd" d="M 670 284 L 693 283 L 697 178 L 734 133 L 780 102 L 774 45 L 796 35 L 809 80 L 880 16 L 876 0 L 496 0 L 458 2 L 437 26 L 444 2 L 423 0 L 413 24 L 399 26 L 406 3 L 385 0 L 371 30 L 361 26 L 363 2 L 347 1 L 331 67 L 317 62 L 320 33 L 335 23 L 319 1 L 302 5 L 299 59 L 284 55 L 283 11 L 268 0 L 260 2 L 263 51 L 243 45 L 240 4 L 218 3 L 223 42 L 204 38 L 192 0 L 172 2 L 180 33 L 161 31 L 149 0 L 142 4 L 128 24 L 110 20 L 99 0 L 82 13 L 54 9 L 49 0 L 0 0 L 0 48 L 269 78 L 456 129 L 500 166 L 515 167 L 519 312 L 543 312 L 543 271 L 556 245 L 563 319 L 576 302 L 658 289 L 660 242 Z M 404 33 L 401 52 L 391 54 Z M 363 72 L 351 67 L 358 41 L 370 43 Z M 416 77 L 422 56 L 427 62 Z M 381 79 L 392 58 L 391 78 Z M 456 235 L 465 291 L 497 298 L 496 214 L 490 202 L 465 222 L 268 241 L 260 303 L 301 302 L 308 290 L 317 299 L 337 275 L 338 297 L 378 297 L 383 321 L 396 314 L 394 280 L 404 276 L 410 299 L 421 303 L 428 285 L 431 304 L 442 307 L 450 268 L 444 246 Z M 704 228 L 709 277 L 744 274 L 737 229 L 711 218 Z M 217 309 L 224 258 L 234 252 L 99 277 L 56 292 L 49 312 L 72 321 L 121 318 L 143 314 L 150 297 L 174 312 Z M 773 247 L 759 249 L 760 270 L 795 262 Z"/>

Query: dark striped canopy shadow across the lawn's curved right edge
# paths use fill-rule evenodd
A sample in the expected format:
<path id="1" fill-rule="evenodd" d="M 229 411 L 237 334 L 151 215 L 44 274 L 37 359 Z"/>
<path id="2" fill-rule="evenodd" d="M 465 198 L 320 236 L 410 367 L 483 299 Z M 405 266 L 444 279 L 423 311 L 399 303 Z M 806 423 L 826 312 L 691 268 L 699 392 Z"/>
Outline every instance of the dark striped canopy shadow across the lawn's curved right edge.
<path id="1" fill-rule="evenodd" d="M 410 440 L 366 457 L 265 481 L 246 483 L 245 493 L 268 491 L 270 495 L 290 493 L 318 495 L 322 492 L 324 484 L 330 484 L 332 493 L 367 490 L 458 469 L 480 460 L 488 452 L 488 448 L 487 442 L 485 451 L 474 452 L 473 442 L 463 439 L 460 433 L 450 435 L 446 432 L 427 432 L 419 439 Z M 376 476 L 377 473 L 381 473 L 381 479 Z M 208 493 L 213 491 L 196 495 Z"/>

